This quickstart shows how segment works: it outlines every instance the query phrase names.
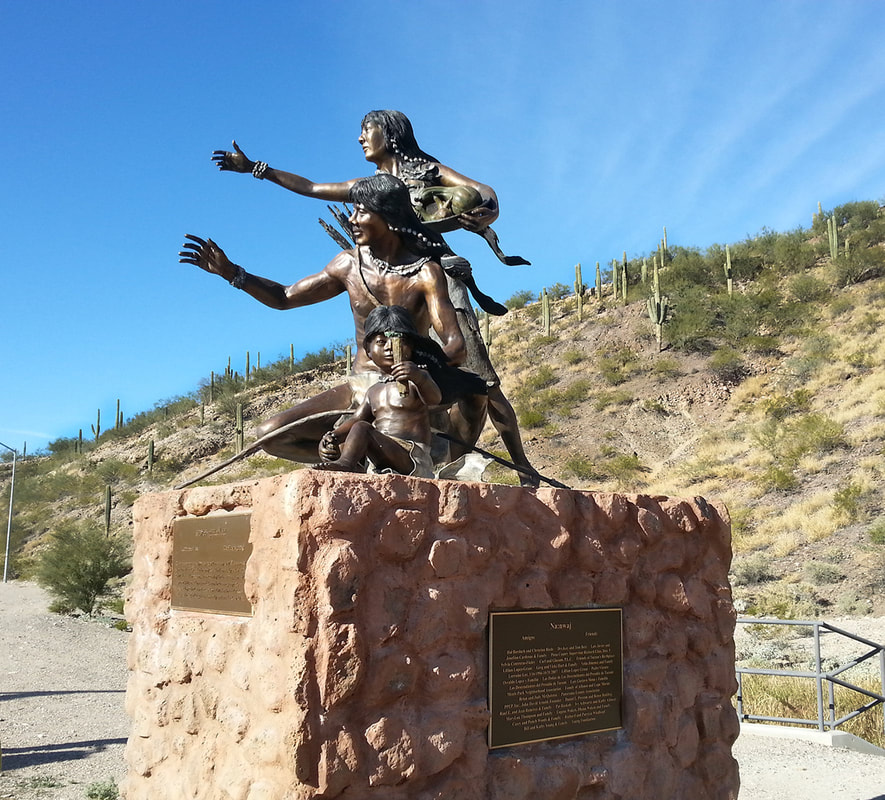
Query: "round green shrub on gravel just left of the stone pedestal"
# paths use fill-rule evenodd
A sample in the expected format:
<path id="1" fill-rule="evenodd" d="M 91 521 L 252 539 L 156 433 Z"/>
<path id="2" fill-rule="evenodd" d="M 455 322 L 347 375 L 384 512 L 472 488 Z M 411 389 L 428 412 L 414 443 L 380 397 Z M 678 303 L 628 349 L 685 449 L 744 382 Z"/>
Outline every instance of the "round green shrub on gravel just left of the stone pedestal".
<path id="1" fill-rule="evenodd" d="M 40 556 L 37 580 L 58 601 L 93 614 L 114 578 L 129 571 L 126 543 L 88 523 L 64 522 Z"/>

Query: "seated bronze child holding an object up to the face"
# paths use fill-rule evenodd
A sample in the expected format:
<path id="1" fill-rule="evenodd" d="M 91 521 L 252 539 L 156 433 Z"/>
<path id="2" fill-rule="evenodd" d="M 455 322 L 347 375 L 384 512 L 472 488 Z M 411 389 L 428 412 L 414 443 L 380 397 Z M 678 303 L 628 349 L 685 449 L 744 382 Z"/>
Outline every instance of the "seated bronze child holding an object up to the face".
<path id="1" fill-rule="evenodd" d="M 438 344 L 421 336 L 402 306 L 377 306 L 366 317 L 363 348 L 381 372 L 346 422 L 320 441 L 315 469 L 395 472 L 433 477 L 430 412 L 452 384 L 482 391 L 477 375 L 446 364 Z M 443 384 L 440 387 L 437 380 Z"/>

